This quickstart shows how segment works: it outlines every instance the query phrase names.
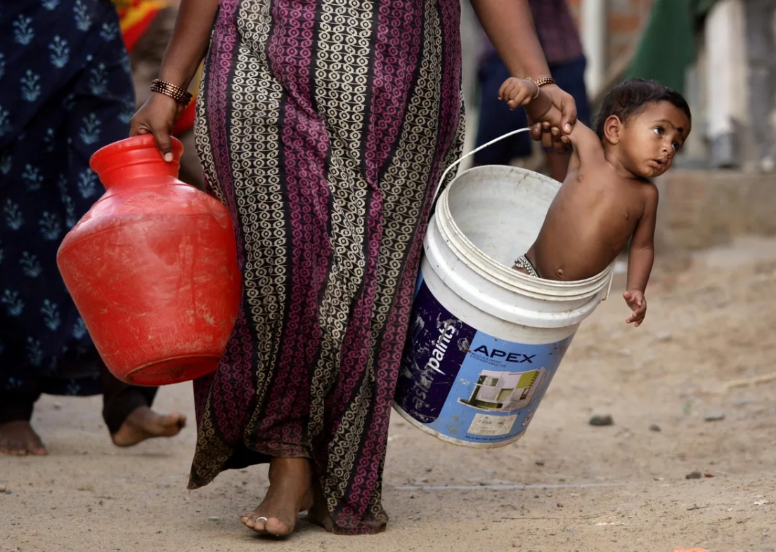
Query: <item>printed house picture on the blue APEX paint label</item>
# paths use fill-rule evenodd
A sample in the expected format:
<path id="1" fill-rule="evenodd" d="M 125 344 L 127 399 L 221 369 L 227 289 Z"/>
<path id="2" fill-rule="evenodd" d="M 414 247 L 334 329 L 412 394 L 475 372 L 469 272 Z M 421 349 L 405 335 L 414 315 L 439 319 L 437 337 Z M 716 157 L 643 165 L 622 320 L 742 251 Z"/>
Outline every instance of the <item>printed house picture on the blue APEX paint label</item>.
<path id="1" fill-rule="evenodd" d="M 531 404 L 545 378 L 545 367 L 526 372 L 480 371 L 472 396 L 458 402 L 488 412 L 514 412 Z"/>

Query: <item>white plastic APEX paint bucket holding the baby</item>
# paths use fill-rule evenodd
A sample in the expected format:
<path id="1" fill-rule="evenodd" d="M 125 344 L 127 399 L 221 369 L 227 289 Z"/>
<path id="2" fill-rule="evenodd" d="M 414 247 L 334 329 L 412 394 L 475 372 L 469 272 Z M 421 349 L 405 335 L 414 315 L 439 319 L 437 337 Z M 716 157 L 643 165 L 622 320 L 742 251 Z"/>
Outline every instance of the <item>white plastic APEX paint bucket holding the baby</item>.
<path id="1" fill-rule="evenodd" d="M 613 274 L 612 264 L 566 282 L 511 268 L 558 189 L 542 174 L 494 165 L 462 172 L 439 195 L 394 397 L 412 425 L 466 447 L 502 447 L 525 433 Z"/>

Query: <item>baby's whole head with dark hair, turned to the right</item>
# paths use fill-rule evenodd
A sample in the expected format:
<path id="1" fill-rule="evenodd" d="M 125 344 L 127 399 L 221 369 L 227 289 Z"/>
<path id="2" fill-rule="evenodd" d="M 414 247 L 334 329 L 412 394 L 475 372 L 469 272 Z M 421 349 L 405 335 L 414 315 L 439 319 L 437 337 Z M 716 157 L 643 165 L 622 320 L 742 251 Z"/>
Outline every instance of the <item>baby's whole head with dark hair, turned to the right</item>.
<path id="1" fill-rule="evenodd" d="M 690 134 L 690 107 L 659 82 L 632 78 L 612 88 L 598 112 L 596 133 L 637 176 L 666 172 Z"/>

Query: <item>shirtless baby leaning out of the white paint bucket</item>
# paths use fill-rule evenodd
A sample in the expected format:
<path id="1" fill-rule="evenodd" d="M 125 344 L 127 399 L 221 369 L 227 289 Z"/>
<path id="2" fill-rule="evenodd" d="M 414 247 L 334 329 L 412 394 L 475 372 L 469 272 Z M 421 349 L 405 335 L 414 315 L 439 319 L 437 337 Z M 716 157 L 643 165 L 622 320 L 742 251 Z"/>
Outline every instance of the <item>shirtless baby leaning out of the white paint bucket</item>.
<path id="1" fill-rule="evenodd" d="M 511 109 L 525 105 L 533 120 L 554 109 L 531 79 L 509 78 L 499 98 Z M 549 206 L 539 236 L 514 261 L 535 278 L 584 280 L 600 273 L 630 240 L 627 323 L 646 315 L 644 291 L 654 258 L 657 188 L 690 133 L 691 114 L 681 94 L 656 81 L 631 79 L 612 88 L 596 131 L 577 122 L 568 174 Z M 556 133 L 549 123 L 542 132 Z M 565 140 L 564 140 L 565 141 Z"/>

